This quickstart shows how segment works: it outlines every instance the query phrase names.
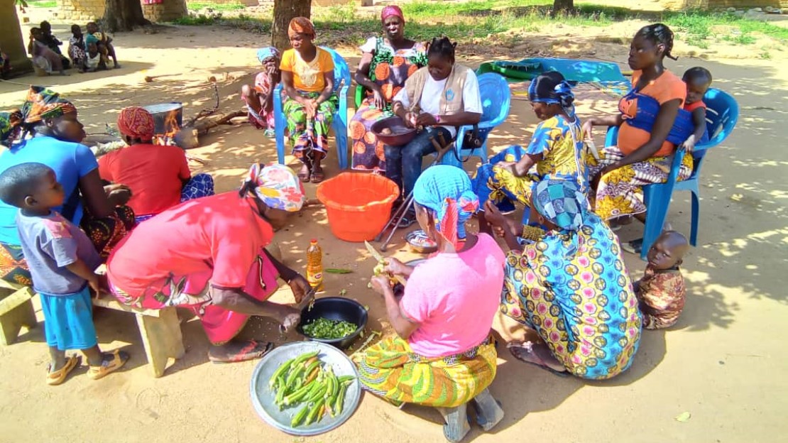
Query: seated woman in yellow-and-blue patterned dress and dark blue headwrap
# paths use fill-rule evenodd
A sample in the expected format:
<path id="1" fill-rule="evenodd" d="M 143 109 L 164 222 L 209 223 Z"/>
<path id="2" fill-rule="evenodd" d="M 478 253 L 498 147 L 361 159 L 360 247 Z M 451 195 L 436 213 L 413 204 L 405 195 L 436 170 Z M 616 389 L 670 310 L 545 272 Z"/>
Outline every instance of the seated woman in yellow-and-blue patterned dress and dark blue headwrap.
<path id="1" fill-rule="evenodd" d="M 561 73 L 544 73 L 531 82 L 528 99 L 541 120 L 528 147 L 508 147 L 480 166 L 474 177 L 474 192 L 481 204 L 491 200 L 502 212 L 515 210 L 515 201 L 530 207 L 533 184 L 545 179 L 570 180 L 583 194 L 588 192 L 582 129 L 574 114 L 571 87 Z M 483 211 L 479 212 L 479 230 L 491 232 Z"/>

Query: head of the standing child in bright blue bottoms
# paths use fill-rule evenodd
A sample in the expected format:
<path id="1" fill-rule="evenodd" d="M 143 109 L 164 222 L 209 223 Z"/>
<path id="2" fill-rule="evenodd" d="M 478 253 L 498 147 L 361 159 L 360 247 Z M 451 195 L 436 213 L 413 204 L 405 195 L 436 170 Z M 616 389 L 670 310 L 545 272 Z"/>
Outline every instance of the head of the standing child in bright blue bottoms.
<path id="1" fill-rule="evenodd" d="M 20 163 L 0 173 L 0 200 L 6 204 L 46 213 L 61 206 L 64 199 L 54 171 L 42 163 Z"/>

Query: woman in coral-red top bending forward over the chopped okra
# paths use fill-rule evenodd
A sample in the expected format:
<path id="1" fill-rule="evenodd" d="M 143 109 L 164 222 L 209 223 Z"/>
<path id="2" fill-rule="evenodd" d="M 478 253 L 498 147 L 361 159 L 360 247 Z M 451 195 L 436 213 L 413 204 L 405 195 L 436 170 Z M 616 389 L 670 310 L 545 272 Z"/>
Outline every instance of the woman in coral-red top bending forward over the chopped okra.
<path id="1" fill-rule="evenodd" d="M 301 209 L 303 186 L 287 166 L 253 165 L 240 192 L 189 200 L 137 226 L 107 260 L 110 290 L 145 309 L 187 307 L 203 322 L 214 362 L 255 359 L 273 344 L 234 341 L 251 315 L 300 322 L 295 307 L 270 303 L 288 282 L 296 303 L 307 280 L 265 250 L 273 229 Z"/>

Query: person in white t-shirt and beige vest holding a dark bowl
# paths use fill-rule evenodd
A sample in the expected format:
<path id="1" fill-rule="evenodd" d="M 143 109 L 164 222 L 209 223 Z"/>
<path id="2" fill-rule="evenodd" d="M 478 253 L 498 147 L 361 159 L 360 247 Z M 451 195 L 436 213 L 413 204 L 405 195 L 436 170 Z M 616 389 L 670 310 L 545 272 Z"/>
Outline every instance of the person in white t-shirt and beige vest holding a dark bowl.
<path id="1" fill-rule="evenodd" d="M 394 97 L 394 114 L 406 125 L 423 128 L 404 146 L 385 146 L 386 176 L 400 185 L 402 197 L 411 193 L 421 175 L 422 158 L 435 152 L 431 137 L 442 134 L 444 139 L 452 140 L 458 126 L 475 125 L 481 120 L 476 74 L 455 64 L 456 46 L 448 37 L 433 39 L 427 50 L 427 65 L 409 76 L 405 87 Z M 414 221 L 411 210 L 400 226 L 407 227 Z"/>

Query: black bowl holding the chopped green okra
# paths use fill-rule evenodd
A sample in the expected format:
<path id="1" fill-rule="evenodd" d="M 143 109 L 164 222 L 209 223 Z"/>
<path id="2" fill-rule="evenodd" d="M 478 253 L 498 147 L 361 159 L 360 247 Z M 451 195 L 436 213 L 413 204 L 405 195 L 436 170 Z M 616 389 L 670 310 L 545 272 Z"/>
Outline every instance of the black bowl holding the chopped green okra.
<path id="1" fill-rule="evenodd" d="M 351 322 L 358 327 L 356 327 L 355 331 L 350 335 L 333 340 L 310 337 L 303 332 L 303 326 L 318 318 Z M 314 300 L 311 309 L 308 306 L 303 308 L 301 311 L 301 322 L 297 330 L 311 341 L 319 341 L 320 343 L 331 344 L 340 349 L 346 349 L 353 343 L 356 337 L 359 337 L 364 326 L 366 326 L 366 319 L 366 309 L 364 309 L 361 303 L 344 297 L 325 297 Z"/>

